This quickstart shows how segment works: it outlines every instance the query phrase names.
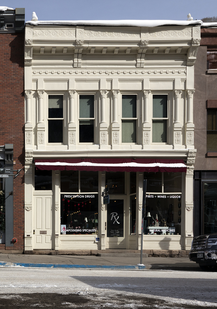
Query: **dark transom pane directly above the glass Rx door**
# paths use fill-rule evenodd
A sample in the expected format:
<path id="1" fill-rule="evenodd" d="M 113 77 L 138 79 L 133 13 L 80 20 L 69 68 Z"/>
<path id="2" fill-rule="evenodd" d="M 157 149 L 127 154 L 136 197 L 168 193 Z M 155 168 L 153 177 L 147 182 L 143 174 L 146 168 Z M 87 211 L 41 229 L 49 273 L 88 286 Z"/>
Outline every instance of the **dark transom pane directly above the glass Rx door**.
<path id="1" fill-rule="evenodd" d="M 105 187 L 109 188 L 110 194 L 125 193 L 125 173 L 124 172 L 106 172 Z"/>

